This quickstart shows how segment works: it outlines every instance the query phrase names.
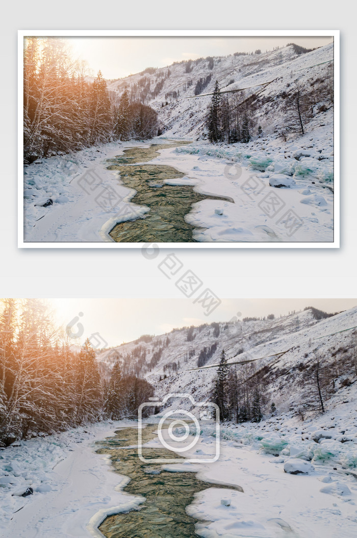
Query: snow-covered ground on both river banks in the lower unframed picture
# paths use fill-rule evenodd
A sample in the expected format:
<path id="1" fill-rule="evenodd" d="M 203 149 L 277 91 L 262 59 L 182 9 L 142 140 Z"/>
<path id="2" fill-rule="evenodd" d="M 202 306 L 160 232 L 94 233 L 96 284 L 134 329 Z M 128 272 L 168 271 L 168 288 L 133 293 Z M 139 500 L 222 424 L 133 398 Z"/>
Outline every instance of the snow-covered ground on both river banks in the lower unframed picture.
<path id="1" fill-rule="evenodd" d="M 158 419 L 148 419 L 150 422 Z M 127 480 L 94 441 L 128 421 L 101 423 L 15 443 L 0 452 L 2 536 L 101 536 L 106 514 L 144 502 L 121 491 Z M 201 427 L 191 457 L 212 452 L 212 427 Z M 175 433 L 175 432 L 174 432 Z M 157 447 L 156 438 L 147 446 Z M 215 463 L 163 464 L 207 482 L 239 486 L 196 494 L 187 512 L 205 538 L 353 538 L 357 532 L 357 419 L 355 405 L 339 405 L 302 422 L 292 413 L 259 424 L 223 424 Z M 288 471 L 307 471 L 291 474 Z M 28 497 L 18 495 L 32 487 Z"/>

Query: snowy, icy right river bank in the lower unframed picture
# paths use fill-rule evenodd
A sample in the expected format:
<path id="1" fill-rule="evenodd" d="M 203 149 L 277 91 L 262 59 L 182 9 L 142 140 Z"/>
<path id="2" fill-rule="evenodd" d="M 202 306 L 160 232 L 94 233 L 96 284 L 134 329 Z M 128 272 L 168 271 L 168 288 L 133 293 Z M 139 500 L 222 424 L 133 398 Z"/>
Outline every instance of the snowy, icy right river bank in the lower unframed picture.
<path id="1" fill-rule="evenodd" d="M 212 454 L 212 427 L 201 427 L 191 457 Z M 302 422 L 292 413 L 259 424 L 223 424 L 215 463 L 163 465 L 215 484 L 195 495 L 188 514 L 205 538 L 352 538 L 357 533 L 355 404 Z M 159 441 L 148 446 L 157 447 Z M 173 443 L 172 443 L 173 445 Z M 295 474 L 296 473 L 296 474 Z"/>

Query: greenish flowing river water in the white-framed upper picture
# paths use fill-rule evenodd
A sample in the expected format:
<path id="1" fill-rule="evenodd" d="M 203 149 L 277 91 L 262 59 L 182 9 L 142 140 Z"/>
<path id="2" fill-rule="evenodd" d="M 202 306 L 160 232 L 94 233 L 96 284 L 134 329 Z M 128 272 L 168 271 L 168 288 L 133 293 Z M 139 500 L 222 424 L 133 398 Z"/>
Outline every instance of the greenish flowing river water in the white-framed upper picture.
<path id="1" fill-rule="evenodd" d="M 155 159 L 159 155 L 157 150 L 183 144 L 188 143 L 175 141 L 172 144 L 128 148 L 123 155 L 108 160 L 108 170 L 118 170 L 123 185 L 136 190 L 131 202 L 150 207 L 144 217 L 116 224 L 110 231 L 114 241 L 194 242 L 194 226 L 185 221 L 192 204 L 207 199 L 227 200 L 196 193 L 193 187 L 187 185 L 164 185 L 167 179 L 183 178 L 185 175 L 172 166 L 140 164 Z"/>

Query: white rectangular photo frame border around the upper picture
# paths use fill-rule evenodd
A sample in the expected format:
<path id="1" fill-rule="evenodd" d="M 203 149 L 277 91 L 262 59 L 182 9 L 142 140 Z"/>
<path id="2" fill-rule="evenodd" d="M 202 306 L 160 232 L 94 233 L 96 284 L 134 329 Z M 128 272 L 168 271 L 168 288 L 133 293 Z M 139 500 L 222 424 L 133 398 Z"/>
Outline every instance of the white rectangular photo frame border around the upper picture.
<path id="1" fill-rule="evenodd" d="M 319 36 L 334 40 L 334 196 L 333 241 L 331 242 L 183 242 L 152 243 L 166 249 L 336 249 L 340 246 L 340 150 L 339 150 L 339 31 L 338 30 L 19 30 L 18 31 L 18 247 L 19 248 L 141 248 L 143 243 L 116 243 L 108 236 L 101 242 L 25 242 L 24 240 L 24 174 L 23 174 L 23 40 L 26 36 L 56 37 L 271 37 Z"/>

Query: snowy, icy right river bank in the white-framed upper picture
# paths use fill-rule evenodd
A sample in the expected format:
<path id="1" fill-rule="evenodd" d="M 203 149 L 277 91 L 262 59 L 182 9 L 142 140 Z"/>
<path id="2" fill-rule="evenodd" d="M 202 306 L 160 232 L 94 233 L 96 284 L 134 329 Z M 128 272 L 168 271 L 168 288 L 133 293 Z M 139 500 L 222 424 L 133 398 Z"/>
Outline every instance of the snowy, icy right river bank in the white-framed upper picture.
<path id="1" fill-rule="evenodd" d="M 332 242 L 333 162 L 318 160 L 320 152 L 333 153 L 323 130 L 314 142 L 308 136 L 286 144 L 273 138 L 230 146 L 195 142 L 161 150 L 150 163 L 186 174 L 170 185 L 232 199 L 194 204 L 186 221 L 195 226 L 196 241 Z M 272 178 L 285 186 L 269 185 Z"/>

